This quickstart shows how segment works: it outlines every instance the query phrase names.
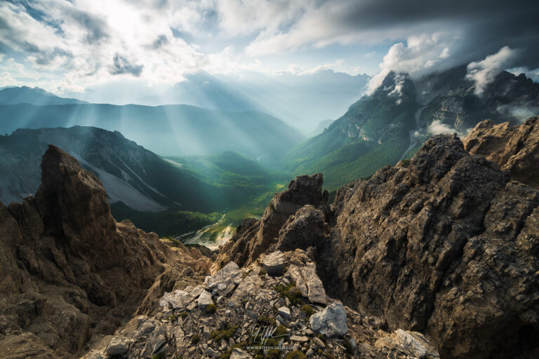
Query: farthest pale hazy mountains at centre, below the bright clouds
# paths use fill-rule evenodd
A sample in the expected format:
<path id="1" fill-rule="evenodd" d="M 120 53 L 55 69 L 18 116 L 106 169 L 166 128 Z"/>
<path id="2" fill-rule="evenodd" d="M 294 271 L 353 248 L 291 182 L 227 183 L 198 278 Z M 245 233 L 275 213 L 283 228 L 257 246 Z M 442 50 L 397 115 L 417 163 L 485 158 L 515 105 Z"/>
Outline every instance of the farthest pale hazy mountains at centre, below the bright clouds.
<path id="1" fill-rule="evenodd" d="M 242 76 L 197 72 L 159 95 L 140 97 L 138 104 L 191 104 L 225 111 L 261 111 L 281 118 L 310 135 L 319 121 L 344 114 L 364 91 L 370 76 L 333 70 L 311 74 Z"/>

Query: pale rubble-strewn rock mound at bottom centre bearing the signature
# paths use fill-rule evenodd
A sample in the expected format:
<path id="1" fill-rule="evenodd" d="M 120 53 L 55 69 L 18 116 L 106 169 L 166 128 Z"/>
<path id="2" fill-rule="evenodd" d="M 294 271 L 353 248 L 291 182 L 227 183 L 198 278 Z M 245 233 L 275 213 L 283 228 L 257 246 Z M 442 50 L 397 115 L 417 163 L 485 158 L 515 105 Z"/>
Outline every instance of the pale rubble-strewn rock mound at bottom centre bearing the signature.
<path id="1" fill-rule="evenodd" d="M 299 301 L 291 303 L 277 288 L 287 287 L 293 292 L 295 283 L 291 269 L 303 271 L 314 263 L 302 250 L 281 255 L 284 256 L 282 276 L 273 277 L 262 271 L 265 259 L 262 255 L 240 269 L 237 287 L 226 296 L 210 294 L 206 285 L 200 295 L 213 297 L 215 313 L 193 305 L 197 302 L 193 297 L 179 307 L 171 307 L 165 299 L 171 293 L 165 294 L 159 301 L 163 306 L 149 316 L 133 318 L 114 336 L 102 339 L 85 359 L 105 356 L 107 348 L 122 351 L 117 357 L 122 359 L 152 355 L 156 355 L 155 358 L 194 359 L 260 358 L 264 355 L 286 358 L 292 351 L 300 351 L 307 358 L 438 358 L 437 352 L 421 334 L 405 332 L 396 336 L 380 330 L 379 319 L 360 316 L 331 298 L 326 308 L 301 295 L 296 297 Z M 227 266 L 234 268 L 236 264 L 230 262 Z M 221 279 L 222 273 L 215 273 L 206 282 Z M 189 288 L 182 290 L 192 292 Z M 307 314 L 305 308 L 312 313 Z M 269 333 L 266 339 L 262 338 L 263 333 Z M 408 340 L 410 338 L 413 341 Z M 287 349 L 267 349 L 276 346 Z M 426 357 L 425 353 L 435 356 Z"/>

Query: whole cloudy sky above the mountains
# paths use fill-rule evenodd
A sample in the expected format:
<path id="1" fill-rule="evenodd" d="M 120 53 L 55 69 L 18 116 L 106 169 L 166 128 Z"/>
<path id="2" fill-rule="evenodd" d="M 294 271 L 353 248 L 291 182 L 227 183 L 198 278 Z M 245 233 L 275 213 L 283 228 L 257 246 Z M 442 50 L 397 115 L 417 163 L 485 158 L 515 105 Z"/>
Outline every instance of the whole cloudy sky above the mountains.
<path id="1" fill-rule="evenodd" d="M 503 69 L 538 81 L 538 18 L 536 0 L 4 0 L 0 86 L 144 95 L 200 70 L 333 69 L 372 90 L 463 64 L 479 85 Z"/>

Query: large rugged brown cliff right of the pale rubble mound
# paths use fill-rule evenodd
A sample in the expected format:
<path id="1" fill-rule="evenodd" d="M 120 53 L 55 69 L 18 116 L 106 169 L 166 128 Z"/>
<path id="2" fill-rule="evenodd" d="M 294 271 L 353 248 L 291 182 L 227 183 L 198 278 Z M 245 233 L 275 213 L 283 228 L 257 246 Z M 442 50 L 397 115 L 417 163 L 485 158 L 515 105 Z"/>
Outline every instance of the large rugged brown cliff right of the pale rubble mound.
<path id="1" fill-rule="evenodd" d="M 339 189 L 323 215 L 302 202 L 271 228 L 246 223 L 220 258 L 260 238 L 268 251 L 304 248 L 328 294 L 392 330 L 424 332 L 442 358 L 535 358 L 539 192 L 514 173 L 434 136 L 411 161 Z"/>

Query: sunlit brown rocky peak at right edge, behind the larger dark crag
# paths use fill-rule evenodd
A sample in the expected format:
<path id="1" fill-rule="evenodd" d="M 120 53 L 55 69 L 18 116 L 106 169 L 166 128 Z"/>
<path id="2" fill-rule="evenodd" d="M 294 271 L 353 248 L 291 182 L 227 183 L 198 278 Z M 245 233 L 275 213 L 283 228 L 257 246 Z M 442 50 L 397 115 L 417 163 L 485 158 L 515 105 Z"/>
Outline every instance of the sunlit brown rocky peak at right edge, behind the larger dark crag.
<path id="1" fill-rule="evenodd" d="M 517 126 L 482 121 L 463 140 L 466 151 L 500 165 L 511 179 L 539 189 L 539 117 Z"/>

